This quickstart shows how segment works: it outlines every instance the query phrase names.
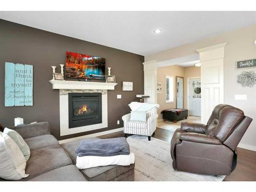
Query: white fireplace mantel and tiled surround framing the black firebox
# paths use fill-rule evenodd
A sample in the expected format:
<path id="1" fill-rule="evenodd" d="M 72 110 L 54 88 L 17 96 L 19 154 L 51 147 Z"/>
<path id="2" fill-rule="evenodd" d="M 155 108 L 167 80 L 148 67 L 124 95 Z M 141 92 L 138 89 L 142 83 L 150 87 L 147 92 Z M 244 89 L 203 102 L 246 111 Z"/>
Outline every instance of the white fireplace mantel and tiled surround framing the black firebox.
<path id="1" fill-rule="evenodd" d="M 117 83 L 50 80 L 52 89 L 59 90 L 60 136 L 72 135 L 108 127 L 108 90 Z M 69 93 L 101 93 L 102 122 L 69 128 Z"/>

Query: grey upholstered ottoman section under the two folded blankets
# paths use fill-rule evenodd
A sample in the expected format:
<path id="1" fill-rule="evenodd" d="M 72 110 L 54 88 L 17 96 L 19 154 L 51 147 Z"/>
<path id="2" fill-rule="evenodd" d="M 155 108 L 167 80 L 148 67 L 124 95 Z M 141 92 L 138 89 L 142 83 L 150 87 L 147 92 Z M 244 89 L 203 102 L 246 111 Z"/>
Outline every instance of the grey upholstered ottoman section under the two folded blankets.
<path id="1" fill-rule="evenodd" d="M 95 138 L 98 139 L 98 138 Z M 61 147 L 68 153 L 73 164 L 76 164 L 75 148 L 82 140 L 61 144 Z M 88 181 L 134 181 L 135 164 L 129 166 L 109 165 L 81 169 L 80 172 Z"/>

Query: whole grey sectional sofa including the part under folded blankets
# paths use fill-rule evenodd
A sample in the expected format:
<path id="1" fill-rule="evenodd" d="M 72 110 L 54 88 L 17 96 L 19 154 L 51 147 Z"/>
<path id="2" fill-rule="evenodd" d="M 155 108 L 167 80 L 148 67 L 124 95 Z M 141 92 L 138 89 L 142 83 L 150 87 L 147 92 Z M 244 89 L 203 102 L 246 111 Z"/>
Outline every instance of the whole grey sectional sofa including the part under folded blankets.
<path id="1" fill-rule="evenodd" d="M 19 181 L 134 181 L 134 166 L 109 165 L 79 170 L 75 148 L 81 140 L 59 144 L 48 122 L 9 127 L 29 145 L 29 177 Z M 6 181 L 0 178 L 0 181 Z"/>

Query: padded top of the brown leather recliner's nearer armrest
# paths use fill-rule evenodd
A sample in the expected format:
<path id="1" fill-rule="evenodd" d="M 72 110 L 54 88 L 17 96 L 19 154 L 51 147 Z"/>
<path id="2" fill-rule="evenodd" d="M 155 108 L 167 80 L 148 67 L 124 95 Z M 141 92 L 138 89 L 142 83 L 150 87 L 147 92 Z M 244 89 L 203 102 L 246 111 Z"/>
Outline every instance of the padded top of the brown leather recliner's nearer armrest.
<path id="1" fill-rule="evenodd" d="M 215 145 L 222 144 L 222 142 L 215 137 L 210 137 L 208 135 L 199 134 L 199 133 L 182 133 L 180 135 L 180 140 L 191 141 L 196 143 L 215 144 Z"/>

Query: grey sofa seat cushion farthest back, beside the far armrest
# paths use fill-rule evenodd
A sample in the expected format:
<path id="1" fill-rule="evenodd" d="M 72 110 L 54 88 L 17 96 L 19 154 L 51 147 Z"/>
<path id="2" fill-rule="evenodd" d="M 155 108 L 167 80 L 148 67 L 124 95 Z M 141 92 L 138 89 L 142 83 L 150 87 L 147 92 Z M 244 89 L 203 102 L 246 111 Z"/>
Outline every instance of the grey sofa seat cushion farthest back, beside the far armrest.
<path id="1" fill-rule="evenodd" d="M 30 151 L 59 144 L 58 140 L 53 135 L 41 135 L 37 137 L 31 137 L 25 139 L 25 141 L 29 145 Z"/>

